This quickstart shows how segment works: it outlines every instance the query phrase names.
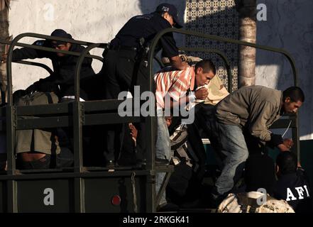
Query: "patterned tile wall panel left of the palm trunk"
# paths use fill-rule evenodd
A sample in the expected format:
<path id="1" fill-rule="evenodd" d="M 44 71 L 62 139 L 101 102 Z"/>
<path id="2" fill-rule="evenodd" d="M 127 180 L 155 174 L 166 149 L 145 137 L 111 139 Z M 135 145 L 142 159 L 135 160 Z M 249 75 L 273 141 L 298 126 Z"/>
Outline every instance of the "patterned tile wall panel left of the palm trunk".
<path id="1" fill-rule="evenodd" d="M 238 39 L 238 13 L 234 9 L 234 0 L 187 0 L 185 28 L 209 35 Z M 219 49 L 228 58 L 233 75 L 233 89 L 237 89 L 238 46 L 194 36 L 186 37 L 186 45 L 192 48 Z M 216 54 L 190 52 L 202 58 L 212 59 L 217 75 L 227 86 L 227 74 L 224 62 Z"/>

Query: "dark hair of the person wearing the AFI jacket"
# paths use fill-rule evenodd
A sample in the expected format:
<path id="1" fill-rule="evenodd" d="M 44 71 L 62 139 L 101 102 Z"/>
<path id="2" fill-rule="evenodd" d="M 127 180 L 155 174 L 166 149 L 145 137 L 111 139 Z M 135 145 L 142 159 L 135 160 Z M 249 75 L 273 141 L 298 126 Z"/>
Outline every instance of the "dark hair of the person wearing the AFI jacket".
<path id="1" fill-rule="evenodd" d="M 276 165 L 282 175 L 297 172 L 297 162 L 297 156 L 290 151 L 282 152 L 276 158 Z"/>

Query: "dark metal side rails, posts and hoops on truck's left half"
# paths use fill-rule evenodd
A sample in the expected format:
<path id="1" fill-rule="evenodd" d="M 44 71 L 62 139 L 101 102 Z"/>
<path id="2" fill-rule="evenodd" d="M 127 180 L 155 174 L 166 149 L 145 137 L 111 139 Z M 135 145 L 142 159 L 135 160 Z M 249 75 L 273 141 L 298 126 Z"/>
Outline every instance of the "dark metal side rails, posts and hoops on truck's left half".
<path id="1" fill-rule="evenodd" d="M 87 48 L 83 52 L 71 52 L 64 50 L 55 50 L 53 48 L 46 48 L 37 45 L 28 45 L 26 43 L 19 43 L 18 41 L 24 37 L 33 38 L 45 38 L 49 40 L 60 40 L 67 43 L 75 43 L 78 45 L 87 45 Z M 0 41 L 0 43 L 2 43 Z M 12 70 L 11 60 L 13 55 L 13 49 L 15 46 L 32 48 L 40 51 L 48 52 L 60 52 L 65 55 L 75 55 L 78 57 L 77 65 L 75 68 L 75 101 L 70 104 L 48 104 L 38 106 L 14 106 L 12 99 Z M 123 117 L 121 118 L 117 113 L 106 113 L 106 111 L 118 109 L 121 100 L 100 100 L 100 101 L 79 101 L 79 74 L 82 67 L 84 57 L 92 57 L 103 62 L 102 57 L 95 55 L 89 55 L 89 50 L 93 48 L 107 48 L 107 44 L 104 43 L 89 43 L 79 40 L 72 40 L 66 38 L 57 38 L 49 35 L 40 35 L 35 33 L 23 33 L 18 35 L 11 41 L 9 52 L 7 56 L 7 77 L 8 77 L 8 104 L 6 107 L 1 108 L 0 116 L 6 117 L 6 140 L 7 140 L 7 155 L 8 165 L 6 175 L 0 176 L 0 179 L 6 180 L 7 183 L 7 204 L 9 212 L 17 212 L 17 184 L 18 179 L 74 179 L 74 191 L 75 191 L 75 211 L 84 212 L 84 178 L 85 177 L 119 177 L 119 176 L 132 176 L 136 171 L 136 176 L 145 176 L 147 185 L 146 192 L 146 210 L 155 211 L 154 200 L 152 194 L 154 192 L 154 172 L 149 169 L 150 165 L 147 165 L 146 169 L 130 170 L 129 168 L 117 168 L 118 172 L 103 172 L 108 168 L 92 168 L 92 170 L 100 170 L 101 172 L 89 172 L 90 168 L 83 166 L 82 160 L 82 126 L 92 126 L 99 124 L 113 124 L 113 123 L 136 123 L 141 121 L 141 117 Z M 18 63 L 23 63 L 19 61 Z M 40 67 L 43 65 L 33 64 Z M 5 114 L 3 112 L 5 110 Z M 99 114 L 99 111 L 101 112 Z M 102 113 L 104 111 L 104 114 Z M 88 112 L 88 113 L 87 113 Z M 97 113 L 97 114 L 96 114 Z M 21 119 L 21 116 L 38 116 L 38 118 Z M 1 121 L 1 127 L 3 127 Z M 55 127 L 68 127 L 72 126 L 74 131 L 74 168 L 72 170 L 60 171 L 60 170 L 16 170 L 14 142 L 15 131 L 23 129 L 33 128 L 55 128 Z M 149 163 L 148 163 L 149 164 Z M 162 171 L 162 170 L 159 170 Z M 167 171 L 167 170 L 165 170 Z M 26 174 L 26 175 L 21 175 Z M 49 174 L 50 173 L 50 174 Z M 134 179 L 133 179 L 134 182 Z M 151 203 L 151 204 L 150 204 Z"/>

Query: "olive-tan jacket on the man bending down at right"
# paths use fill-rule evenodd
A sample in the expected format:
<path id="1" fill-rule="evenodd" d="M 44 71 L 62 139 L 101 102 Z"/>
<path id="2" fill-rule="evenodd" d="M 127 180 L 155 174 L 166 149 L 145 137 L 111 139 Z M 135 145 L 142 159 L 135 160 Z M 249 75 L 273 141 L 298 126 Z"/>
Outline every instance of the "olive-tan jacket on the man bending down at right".
<path id="1" fill-rule="evenodd" d="M 263 86 L 242 87 L 219 102 L 219 123 L 248 130 L 261 141 L 270 141 L 268 128 L 280 118 L 282 92 Z"/>

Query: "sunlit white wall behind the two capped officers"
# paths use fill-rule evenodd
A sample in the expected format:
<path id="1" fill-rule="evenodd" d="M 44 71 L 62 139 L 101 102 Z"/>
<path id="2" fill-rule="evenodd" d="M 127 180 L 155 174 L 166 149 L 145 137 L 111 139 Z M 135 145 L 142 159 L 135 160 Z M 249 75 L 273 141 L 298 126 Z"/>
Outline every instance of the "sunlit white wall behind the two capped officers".
<path id="1" fill-rule="evenodd" d="M 62 28 L 77 40 L 93 43 L 108 43 L 126 21 L 137 14 L 155 10 L 161 2 L 155 0 L 16 0 L 11 1 L 9 14 L 10 34 L 41 33 L 50 35 L 56 28 Z M 183 20 L 185 0 L 168 1 L 175 4 Z M 22 40 L 33 43 L 33 39 Z M 182 43 L 182 38 L 177 40 Z M 92 53 L 101 55 L 101 50 Z M 38 60 L 36 60 L 38 62 Z M 50 64 L 50 60 L 40 60 Z M 101 63 L 94 60 L 94 70 Z M 13 91 L 25 89 L 41 77 L 48 76 L 38 67 L 13 64 Z"/>

